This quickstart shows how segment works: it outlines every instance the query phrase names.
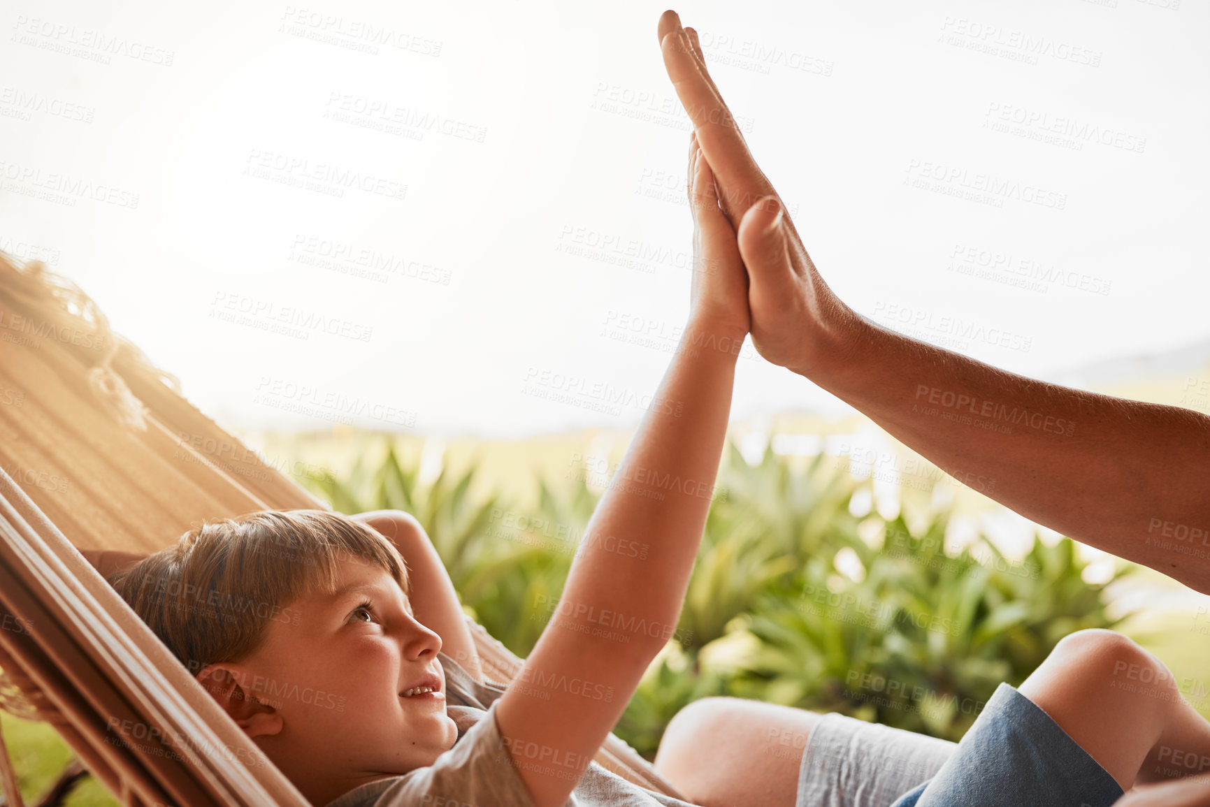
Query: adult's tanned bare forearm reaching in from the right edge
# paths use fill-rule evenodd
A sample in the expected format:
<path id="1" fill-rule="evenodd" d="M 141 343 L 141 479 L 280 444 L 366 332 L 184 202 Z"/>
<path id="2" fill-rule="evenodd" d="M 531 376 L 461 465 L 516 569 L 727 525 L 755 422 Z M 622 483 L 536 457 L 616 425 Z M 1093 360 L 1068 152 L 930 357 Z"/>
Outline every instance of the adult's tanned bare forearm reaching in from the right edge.
<path id="1" fill-rule="evenodd" d="M 847 325 L 808 377 L 1022 515 L 1210 592 L 1210 417 Z"/>

